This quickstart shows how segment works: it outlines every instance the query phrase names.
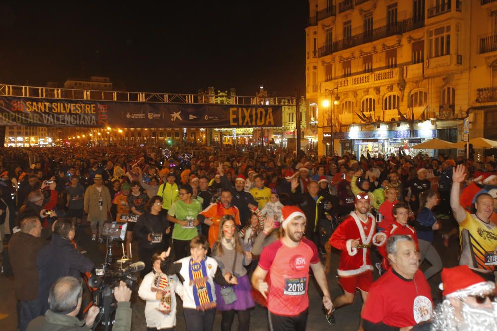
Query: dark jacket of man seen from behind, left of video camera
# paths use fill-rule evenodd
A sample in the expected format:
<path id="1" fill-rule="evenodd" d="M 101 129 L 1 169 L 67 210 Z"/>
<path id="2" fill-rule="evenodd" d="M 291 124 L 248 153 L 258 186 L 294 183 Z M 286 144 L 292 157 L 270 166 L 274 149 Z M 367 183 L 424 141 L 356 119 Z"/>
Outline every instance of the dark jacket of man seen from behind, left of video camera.
<path id="1" fill-rule="evenodd" d="M 50 287 L 61 277 L 81 278 L 80 272 L 93 269 L 93 262 L 81 254 L 67 238 L 52 235 L 50 244 L 41 248 L 36 260 L 38 269 L 38 300 L 43 303 L 45 313 L 49 309 L 48 294 Z"/>

